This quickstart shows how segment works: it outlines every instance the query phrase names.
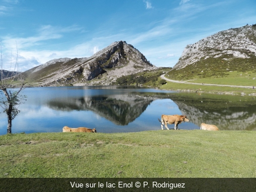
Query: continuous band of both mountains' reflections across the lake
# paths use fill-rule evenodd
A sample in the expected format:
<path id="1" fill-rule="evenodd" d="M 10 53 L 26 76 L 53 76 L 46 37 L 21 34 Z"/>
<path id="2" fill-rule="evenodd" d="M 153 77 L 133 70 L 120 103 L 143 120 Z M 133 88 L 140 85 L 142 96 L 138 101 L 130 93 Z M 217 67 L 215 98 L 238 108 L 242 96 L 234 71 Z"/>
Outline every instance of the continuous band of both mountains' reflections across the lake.
<path id="1" fill-rule="evenodd" d="M 139 117 L 152 101 L 159 99 L 171 99 L 177 104 L 180 114 L 188 116 L 190 122 L 198 127 L 205 122 L 217 125 L 221 130 L 256 128 L 256 102 L 253 97 L 244 96 L 132 92 L 128 95 L 56 99 L 50 101 L 48 106 L 60 111 L 93 111 L 117 125 L 128 125 Z M 168 114 L 173 115 L 172 112 Z"/>

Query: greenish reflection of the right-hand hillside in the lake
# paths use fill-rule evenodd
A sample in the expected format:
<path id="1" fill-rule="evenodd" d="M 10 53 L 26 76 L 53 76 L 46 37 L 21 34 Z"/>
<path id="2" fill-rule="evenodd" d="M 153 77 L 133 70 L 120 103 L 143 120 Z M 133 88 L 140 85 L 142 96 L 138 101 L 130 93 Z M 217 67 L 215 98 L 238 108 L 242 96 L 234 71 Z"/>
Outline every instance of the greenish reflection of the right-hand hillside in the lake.
<path id="1" fill-rule="evenodd" d="M 254 97 L 178 93 L 170 99 L 197 126 L 205 122 L 220 130 L 256 130 Z"/>

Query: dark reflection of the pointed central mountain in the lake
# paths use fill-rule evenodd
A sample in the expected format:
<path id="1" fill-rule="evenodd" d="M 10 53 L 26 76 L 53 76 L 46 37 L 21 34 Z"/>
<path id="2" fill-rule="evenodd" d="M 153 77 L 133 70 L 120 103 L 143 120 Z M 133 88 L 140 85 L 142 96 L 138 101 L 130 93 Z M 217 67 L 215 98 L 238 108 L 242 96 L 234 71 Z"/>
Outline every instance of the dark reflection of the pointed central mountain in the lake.
<path id="1" fill-rule="evenodd" d="M 153 99 L 136 94 L 54 99 L 48 107 L 59 111 L 93 111 L 117 125 L 128 125 L 147 109 Z"/>

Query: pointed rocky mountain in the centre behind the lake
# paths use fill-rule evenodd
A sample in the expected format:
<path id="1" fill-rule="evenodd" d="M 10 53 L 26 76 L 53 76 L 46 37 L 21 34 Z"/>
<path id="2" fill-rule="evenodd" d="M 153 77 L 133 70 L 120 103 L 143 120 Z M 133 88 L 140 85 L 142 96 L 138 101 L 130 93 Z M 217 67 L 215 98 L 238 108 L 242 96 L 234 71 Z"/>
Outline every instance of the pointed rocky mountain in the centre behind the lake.
<path id="1" fill-rule="evenodd" d="M 117 77 L 156 68 L 131 44 L 119 41 L 89 58 L 54 59 L 23 75 L 27 81 L 43 86 L 109 85 Z"/>

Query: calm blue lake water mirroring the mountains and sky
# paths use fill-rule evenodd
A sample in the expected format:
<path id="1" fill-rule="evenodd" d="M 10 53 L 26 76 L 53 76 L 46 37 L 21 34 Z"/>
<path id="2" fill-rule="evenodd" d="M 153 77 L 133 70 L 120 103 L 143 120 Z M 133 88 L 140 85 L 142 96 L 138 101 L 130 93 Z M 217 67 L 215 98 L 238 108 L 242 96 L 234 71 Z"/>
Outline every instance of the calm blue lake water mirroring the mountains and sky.
<path id="1" fill-rule="evenodd" d="M 13 120 L 12 133 L 62 132 L 63 126 L 86 126 L 97 132 L 140 132 L 161 129 L 162 114 L 186 115 L 179 129 L 200 124 L 221 130 L 256 130 L 256 99 L 245 96 L 161 91 L 120 86 L 26 88 L 27 101 Z M 168 125 L 170 129 L 174 125 Z M 0 113 L 0 134 L 7 117 Z"/>

